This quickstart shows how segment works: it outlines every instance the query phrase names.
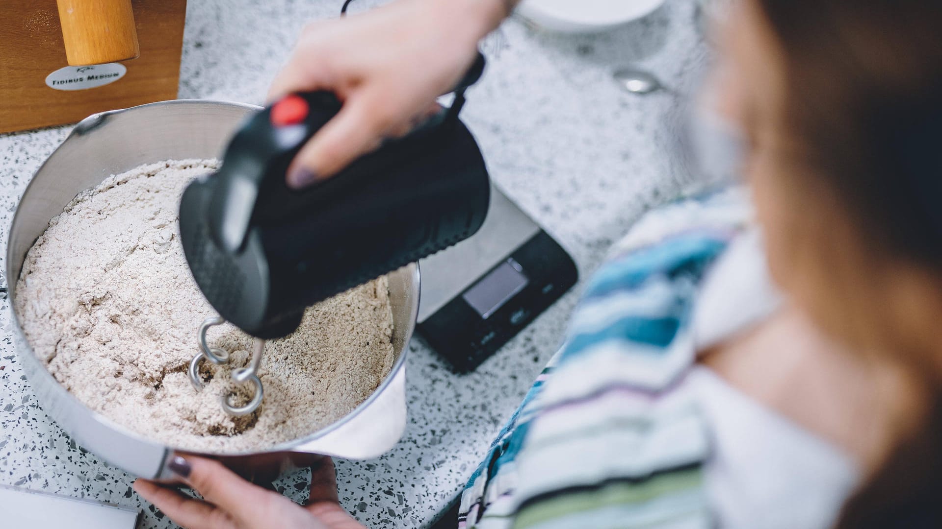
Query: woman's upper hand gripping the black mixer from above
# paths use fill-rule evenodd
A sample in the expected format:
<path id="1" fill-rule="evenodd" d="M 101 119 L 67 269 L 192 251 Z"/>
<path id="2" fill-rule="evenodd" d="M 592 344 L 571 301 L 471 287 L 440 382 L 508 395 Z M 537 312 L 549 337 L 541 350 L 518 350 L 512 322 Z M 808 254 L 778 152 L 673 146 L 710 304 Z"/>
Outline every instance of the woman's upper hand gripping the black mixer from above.
<path id="1" fill-rule="evenodd" d="M 288 184 L 327 178 L 385 137 L 402 136 L 471 66 L 478 40 L 515 0 L 398 0 L 363 14 L 306 26 L 271 86 L 287 93 L 333 91 L 340 113 L 288 169 Z M 354 5 L 355 6 L 355 5 Z"/>

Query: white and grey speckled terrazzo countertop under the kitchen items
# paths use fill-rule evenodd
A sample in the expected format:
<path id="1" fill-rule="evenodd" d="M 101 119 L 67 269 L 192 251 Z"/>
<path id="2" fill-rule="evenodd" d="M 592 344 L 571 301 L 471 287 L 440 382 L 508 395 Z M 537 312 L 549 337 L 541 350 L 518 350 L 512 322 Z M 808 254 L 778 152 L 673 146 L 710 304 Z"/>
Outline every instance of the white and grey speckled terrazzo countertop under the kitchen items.
<path id="1" fill-rule="evenodd" d="M 260 103 L 301 24 L 334 16 L 340 3 L 191 0 L 179 96 Z M 371 4 L 361 3 L 351 10 Z M 490 65 L 468 94 L 464 120 L 495 182 L 570 250 L 583 281 L 634 219 L 691 181 L 672 155 L 683 115 L 678 98 L 627 94 L 611 72 L 642 65 L 672 88 L 689 87 L 705 55 L 694 10 L 693 0 L 668 0 L 642 21 L 594 36 L 554 35 L 512 20 L 485 42 Z M 17 200 L 70 129 L 0 136 L 0 255 Z M 428 525 L 560 344 L 581 284 L 469 376 L 449 374 L 415 339 L 405 436 L 383 457 L 337 462 L 342 504 L 369 527 Z M 8 303 L 0 304 L 0 329 L 7 329 Z M 130 489 L 132 476 L 76 446 L 40 405 L 8 330 L 0 330 L 0 484 L 138 507 L 138 527 L 174 526 Z M 275 485 L 300 500 L 307 479 L 295 473 Z"/>

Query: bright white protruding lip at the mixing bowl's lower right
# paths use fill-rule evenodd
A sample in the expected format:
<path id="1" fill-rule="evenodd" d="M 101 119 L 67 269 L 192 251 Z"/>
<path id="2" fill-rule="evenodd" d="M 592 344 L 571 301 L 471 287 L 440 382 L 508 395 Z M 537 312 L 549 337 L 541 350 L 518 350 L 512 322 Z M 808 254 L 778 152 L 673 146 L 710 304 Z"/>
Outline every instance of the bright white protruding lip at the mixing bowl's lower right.
<path id="1" fill-rule="evenodd" d="M 406 369 L 403 365 L 382 393 L 349 421 L 292 450 L 345 459 L 371 459 L 395 446 L 405 428 Z"/>

